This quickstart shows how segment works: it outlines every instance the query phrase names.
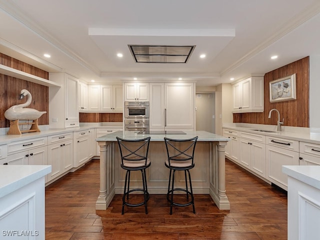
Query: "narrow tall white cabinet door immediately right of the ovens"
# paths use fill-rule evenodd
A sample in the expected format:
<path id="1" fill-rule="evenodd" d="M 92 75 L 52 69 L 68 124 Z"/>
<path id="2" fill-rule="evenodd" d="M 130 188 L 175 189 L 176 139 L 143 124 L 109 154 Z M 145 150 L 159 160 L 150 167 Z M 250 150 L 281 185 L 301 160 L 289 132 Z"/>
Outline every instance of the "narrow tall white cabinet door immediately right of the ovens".
<path id="1" fill-rule="evenodd" d="M 164 129 L 164 83 L 150 83 L 149 127 Z"/>

